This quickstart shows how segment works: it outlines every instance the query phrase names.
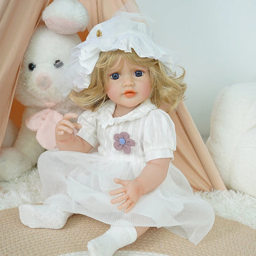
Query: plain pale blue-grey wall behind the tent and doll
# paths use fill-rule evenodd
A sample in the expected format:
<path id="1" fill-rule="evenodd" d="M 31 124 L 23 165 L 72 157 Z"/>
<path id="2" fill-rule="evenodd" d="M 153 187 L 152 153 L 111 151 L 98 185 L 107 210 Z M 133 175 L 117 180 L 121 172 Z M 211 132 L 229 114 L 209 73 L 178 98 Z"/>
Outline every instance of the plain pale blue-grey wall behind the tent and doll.
<path id="1" fill-rule="evenodd" d="M 136 0 L 156 41 L 180 54 L 186 107 L 204 140 L 220 90 L 256 82 L 255 0 Z"/>

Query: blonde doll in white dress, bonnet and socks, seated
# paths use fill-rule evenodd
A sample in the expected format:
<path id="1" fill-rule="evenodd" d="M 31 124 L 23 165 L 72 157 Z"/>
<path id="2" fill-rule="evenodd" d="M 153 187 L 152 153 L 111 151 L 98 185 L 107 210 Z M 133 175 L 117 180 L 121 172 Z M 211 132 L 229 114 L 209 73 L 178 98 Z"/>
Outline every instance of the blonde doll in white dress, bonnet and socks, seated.
<path id="1" fill-rule="evenodd" d="M 214 211 L 170 162 L 174 123 L 158 109 L 161 103 L 174 109 L 185 92 L 183 76 L 175 77 L 171 67 L 170 52 L 154 43 L 145 23 L 127 14 L 90 31 L 65 70 L 74 84 L 70 97 L 86 111 L 78 123 L 70 121 L 74 113 L 58 122 L 58 150 L 38 161 L 46 201 L 19 207 L 24 225 L 58 229 L 72 214 L 110 224 L 87 244 L 91 256 L 113 255 L 150 226 L 166 227 L 194 244 L 206 236 Z"/>

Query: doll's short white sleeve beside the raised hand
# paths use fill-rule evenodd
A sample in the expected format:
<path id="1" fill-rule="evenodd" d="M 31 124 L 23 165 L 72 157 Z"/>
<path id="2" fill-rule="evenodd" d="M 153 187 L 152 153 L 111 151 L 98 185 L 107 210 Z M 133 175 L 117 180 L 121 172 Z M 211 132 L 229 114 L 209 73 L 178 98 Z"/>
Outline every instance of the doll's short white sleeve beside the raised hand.
<path id="1" fill-rule="evenodd" d="M 78 136 L 86 140 L 90 145 L 98 144 L 97 137 L 97 111 L 86 110 L 78 118 L 78 123 L 82 128 L 78 132 Z"/>

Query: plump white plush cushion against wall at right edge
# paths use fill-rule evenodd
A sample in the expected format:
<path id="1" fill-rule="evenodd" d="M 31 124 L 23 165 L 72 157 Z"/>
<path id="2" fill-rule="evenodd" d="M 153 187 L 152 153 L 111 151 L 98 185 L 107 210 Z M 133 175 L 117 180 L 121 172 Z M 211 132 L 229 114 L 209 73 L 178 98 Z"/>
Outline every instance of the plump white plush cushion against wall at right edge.
<path id="1" fill-rule="evenodd" d="M 224 87 L 206 145 L 226 187 L 256 197 L 256 84 Z"/>

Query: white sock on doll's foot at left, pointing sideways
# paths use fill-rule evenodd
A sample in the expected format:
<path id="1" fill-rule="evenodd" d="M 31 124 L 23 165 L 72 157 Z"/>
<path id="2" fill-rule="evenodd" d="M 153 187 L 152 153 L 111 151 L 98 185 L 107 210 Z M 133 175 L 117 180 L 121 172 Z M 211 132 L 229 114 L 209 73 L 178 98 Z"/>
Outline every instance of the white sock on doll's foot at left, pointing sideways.
<path id="1" fill-rule="evenodd" d="M 52 204 L 21 204 L 18 209 L 21 222 L 30 228 L 52 228 L 58 230 L 65 225 L 68 217 L 72 215 L 70 212 L 65 212 Z"/>

